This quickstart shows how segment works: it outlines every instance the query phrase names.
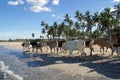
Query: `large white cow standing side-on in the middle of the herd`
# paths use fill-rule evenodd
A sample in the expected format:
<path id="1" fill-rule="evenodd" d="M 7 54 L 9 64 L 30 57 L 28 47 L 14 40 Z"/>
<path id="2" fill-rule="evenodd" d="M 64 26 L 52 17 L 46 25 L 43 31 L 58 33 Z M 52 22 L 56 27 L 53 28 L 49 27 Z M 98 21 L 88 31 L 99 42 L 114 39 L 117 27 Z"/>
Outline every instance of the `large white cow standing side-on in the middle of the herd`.
<path id="1" fill-rule="evenodd" d="M 79 52 L 81 52 L 82 55 L 86 56 L 84 48 L 85 48 L 84 40 L 67 41 L 62 45 L 62 49 L 70 51 L 69 56 L 72 55 L 73 50 L 78 50 Z"/>

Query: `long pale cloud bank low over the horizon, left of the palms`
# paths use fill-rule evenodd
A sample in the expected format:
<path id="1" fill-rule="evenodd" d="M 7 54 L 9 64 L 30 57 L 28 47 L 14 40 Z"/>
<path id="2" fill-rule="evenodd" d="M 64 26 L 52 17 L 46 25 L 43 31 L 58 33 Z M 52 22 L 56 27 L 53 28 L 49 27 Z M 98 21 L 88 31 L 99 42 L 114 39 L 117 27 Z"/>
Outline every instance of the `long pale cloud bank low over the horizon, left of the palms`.
<path id="1" fill-rule="evenodd" d="M 43 36 L 39 31 L 10 31 L 10 32 L 0 32 L 0 40 L 9 40 L 9 39 L 31 39 L 31 34 L 35 34 L 35 38 L 40 38 L 40 35 Z"/>

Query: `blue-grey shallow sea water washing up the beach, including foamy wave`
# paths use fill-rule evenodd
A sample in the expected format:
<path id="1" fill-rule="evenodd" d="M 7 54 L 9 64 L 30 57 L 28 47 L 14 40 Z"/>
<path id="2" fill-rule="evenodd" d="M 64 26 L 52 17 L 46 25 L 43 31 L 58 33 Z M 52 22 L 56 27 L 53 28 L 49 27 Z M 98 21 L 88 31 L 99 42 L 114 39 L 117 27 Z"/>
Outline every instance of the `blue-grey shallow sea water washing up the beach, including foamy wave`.
<path id="1" fill-rule="evenodd" d="M 24 54 L 22 51 L 0 46 L 0 80 L 87 80 L 82 79 L 80 74 L 72 75 L 66 71 L 45 68 L 44 66 L 54 64 L 48 62 L 53 62 L 52 60 L 53 58 L 36 60 L 33 53 Z"/>

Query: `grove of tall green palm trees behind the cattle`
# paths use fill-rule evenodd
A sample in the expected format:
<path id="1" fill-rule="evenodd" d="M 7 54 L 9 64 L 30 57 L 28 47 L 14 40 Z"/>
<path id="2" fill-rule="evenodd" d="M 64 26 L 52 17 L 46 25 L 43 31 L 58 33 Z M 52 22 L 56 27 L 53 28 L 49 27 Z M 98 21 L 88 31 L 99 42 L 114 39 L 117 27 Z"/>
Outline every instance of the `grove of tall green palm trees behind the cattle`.
<path id="1" fill-rule="evenodd" d="M 75 21 L 68 13 L 65 14 L 63 22 L 48 25 L 41 22 L 42 33 L 47 34 L 48 39 L 71 39 L 77 38 L 101 38 L 110 35 L 110 31 L 120 32 L 120 3 L 114 6 L 115 11 L 105 8 L 102 12 L 95 12 L 91 15 L 90 11 L 82 14 L 75 12 Z M 94 30 L 93 30 L 94 29 Z"/>

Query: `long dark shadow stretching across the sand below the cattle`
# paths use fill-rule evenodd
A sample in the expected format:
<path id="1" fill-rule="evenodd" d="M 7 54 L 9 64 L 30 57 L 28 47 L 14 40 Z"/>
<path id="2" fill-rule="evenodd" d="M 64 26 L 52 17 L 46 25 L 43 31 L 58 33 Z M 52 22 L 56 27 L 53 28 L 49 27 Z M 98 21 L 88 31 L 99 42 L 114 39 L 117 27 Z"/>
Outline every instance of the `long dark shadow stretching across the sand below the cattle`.
<path id="1" fill-rule="evenodd" d="M 111 79 L 120 79 L 120 59 L 117 57 L 103 57 L 102 55 L 93 55 L 84 57 L 65 57 L 59 55 L 40 54 L 38 60 L 26 62 L 29 67 L 42 67 L 52 64 L 74 64 L 85 66 L 91 69 L 88 73 L 96 71 Z"/>

